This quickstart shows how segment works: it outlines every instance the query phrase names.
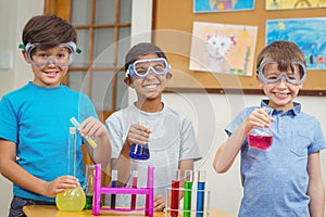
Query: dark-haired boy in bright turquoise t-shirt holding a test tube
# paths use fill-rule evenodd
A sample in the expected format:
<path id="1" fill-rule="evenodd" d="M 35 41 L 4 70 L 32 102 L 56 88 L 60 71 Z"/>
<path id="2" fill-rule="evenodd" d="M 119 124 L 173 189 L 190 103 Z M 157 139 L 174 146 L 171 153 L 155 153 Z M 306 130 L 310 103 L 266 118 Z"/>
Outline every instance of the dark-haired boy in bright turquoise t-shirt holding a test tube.
<path id="1" fill-rule="evenodd" d="M 23 29 L 22 53 L 34 80 L 0 101 L 0 171 L 13 182 L 11 217 L 25 216 L 26 205 L 54 205 L 58 193 L 83 184 L 82 142 L 96 163 L 110 161 L 109 135 L 90 99 L 61 85 L 78 51 L 76 38 L 75 28 L 54 15 L 34 16 Z M 77 138 L 76 177 L 67 175 L 71 117 L 97 142 L 92 149 Z"/>

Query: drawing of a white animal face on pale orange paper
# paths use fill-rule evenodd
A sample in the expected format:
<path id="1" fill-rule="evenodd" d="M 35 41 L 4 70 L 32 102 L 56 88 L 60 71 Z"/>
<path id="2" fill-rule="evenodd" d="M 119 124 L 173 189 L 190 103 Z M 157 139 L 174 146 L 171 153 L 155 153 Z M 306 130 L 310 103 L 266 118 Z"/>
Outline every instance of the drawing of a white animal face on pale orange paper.
<path id="1" fill-rule="evenodd" d="M 251 76 L 256 35 L 256 26 L 195 22 L 189 68 Z"/>

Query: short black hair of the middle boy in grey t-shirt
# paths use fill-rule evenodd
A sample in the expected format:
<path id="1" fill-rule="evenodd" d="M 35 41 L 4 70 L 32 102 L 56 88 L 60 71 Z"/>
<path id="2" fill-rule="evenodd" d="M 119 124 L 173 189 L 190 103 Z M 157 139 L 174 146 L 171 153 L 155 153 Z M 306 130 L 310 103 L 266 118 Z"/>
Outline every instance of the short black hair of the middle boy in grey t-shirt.
<path id="1" fill-rule="evenodd" d="M 164 58 L 167 61 L 165 53 L 158 46 L 149 42 L 141 42 L 134 46 L 126 54 L 125 71 L 128 69 L 128 66 L 133 64 L 138 56 L 150 53 L 156 53 L 159 58 Z"/>

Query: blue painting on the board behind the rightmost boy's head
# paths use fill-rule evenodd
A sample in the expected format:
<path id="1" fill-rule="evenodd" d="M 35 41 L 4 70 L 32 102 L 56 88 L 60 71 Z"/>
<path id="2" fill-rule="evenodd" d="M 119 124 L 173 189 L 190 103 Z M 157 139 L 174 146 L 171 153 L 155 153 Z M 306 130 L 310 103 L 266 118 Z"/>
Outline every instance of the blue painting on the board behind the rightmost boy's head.
<path id="1" fill-rule="evenodd" d="M 309 69 L 326 68 L 326 17 L 266 21 L 266 44 L 288 40 L 302 50 Z"/>

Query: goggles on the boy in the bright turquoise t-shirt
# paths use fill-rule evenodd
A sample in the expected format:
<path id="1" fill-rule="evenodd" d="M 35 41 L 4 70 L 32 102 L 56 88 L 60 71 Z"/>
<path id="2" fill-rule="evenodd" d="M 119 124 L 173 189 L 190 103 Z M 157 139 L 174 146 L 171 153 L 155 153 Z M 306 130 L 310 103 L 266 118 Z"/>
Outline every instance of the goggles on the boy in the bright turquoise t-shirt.
<path id="1" fill-rule="evenodd" d="M 45 67 L 49 64 L 66 67 L 73 62 L 74 54 L 79 51 L 76 43 L 72 41 L 60 43 L 59 47 L 54 52 L 49 52 L 49 49 L 46 49 L 45 44 L 28 42 L 25 51 L 30 64 L 35 67 Z"/>

